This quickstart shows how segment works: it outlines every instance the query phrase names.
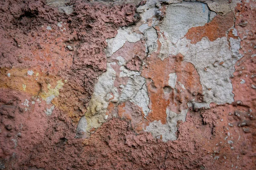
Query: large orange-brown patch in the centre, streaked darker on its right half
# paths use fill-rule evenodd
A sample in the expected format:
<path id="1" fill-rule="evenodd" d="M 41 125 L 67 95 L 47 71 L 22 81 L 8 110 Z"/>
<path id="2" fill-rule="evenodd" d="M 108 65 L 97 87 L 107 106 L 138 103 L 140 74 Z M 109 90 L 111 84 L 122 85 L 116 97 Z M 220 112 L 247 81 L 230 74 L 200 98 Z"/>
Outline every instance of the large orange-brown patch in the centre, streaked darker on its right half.
<path id="1" fill-rule="evenodd" d="M 176 73 L 175 89 L 168 84 L 169 74 Z M 178 54 L 161 61 L 158 57 L 150 57 L 148 65 L 142 71 L 142 76 L 147 78 L 148 96 L 150 98 L 147 119 L 150 122 L 160 120 L 166 123 L 166 108 L 176 113 L 187 108 L 187 102 L 192 99 L 199 100 L 202 87 L 195 67 L 188 62 L 183 62 L 183 56 Z M 186 89 L 183 89 L 183 86 Z M 167 89 L 167 90 L 166 90 Z"/>

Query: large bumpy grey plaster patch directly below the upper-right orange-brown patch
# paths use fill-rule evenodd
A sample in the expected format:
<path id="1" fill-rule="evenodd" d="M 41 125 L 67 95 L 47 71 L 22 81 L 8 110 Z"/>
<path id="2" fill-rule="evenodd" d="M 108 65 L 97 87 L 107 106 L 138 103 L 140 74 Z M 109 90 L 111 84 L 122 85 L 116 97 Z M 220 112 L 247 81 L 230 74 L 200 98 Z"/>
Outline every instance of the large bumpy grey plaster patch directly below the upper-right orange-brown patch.
<path id="1" fill-rule="evenodd" d="M 230 77 L 235 71 L 238 59 L 232 57 L 226 37 L 211 42 L 204 37 L 191 45 L 184 56 L 184 61 L 191 62 L 200 75 L 204 101 L 217 104 L 232 103 L 233 86 Z M 224 62 L 220 65 L 220 62 Z"/>

